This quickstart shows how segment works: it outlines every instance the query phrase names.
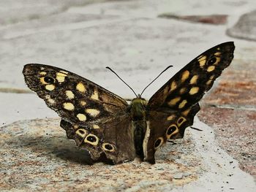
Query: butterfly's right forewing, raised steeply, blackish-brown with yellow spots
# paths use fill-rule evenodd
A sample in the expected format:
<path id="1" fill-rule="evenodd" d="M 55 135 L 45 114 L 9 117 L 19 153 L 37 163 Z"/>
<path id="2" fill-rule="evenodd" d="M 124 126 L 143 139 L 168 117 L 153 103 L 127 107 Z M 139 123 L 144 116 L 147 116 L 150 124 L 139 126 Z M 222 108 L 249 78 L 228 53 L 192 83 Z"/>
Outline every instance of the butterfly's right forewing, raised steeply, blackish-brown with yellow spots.
<path id="1" fill-rule="evenodd" d="M 182 111 L 196 104 L 230 65 L 234 49 L 233 42 L 225 42 L 197 56 L 154 93 L 148 107 Z"/>

